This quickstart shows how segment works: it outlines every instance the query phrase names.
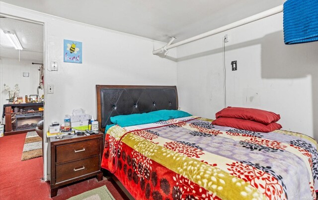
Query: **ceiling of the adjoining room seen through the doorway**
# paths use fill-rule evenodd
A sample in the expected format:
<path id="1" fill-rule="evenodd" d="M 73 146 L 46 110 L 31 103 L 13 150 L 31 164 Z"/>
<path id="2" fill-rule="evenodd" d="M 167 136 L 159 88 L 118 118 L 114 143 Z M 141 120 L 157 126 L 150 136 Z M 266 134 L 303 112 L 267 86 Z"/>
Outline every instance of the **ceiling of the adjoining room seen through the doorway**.
<path id="1" fill-rule="evenodd" d="M 43 26 L 10 18 L 0 18 L 0 56 L 18 58 L 15 50 L 3 31 L 12 31 L 19 39 L 23 50 L 20 59 L 43 62 Z"/>

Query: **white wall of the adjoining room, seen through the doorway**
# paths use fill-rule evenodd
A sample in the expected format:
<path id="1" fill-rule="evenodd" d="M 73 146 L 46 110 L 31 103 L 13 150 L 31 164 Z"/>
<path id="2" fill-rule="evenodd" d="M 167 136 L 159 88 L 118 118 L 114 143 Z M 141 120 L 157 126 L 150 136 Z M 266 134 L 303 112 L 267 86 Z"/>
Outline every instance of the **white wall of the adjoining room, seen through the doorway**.
<path id="1" fill-rule="evenodd" d="M 2 93 L 2 104 L 8 103 L 6 99 L 9 98 L 8 92 L 4 90 L 3 84 L 8 85 L 10 88 L 14 88 L 15 84 L 19 84 L 20 93 L 18 97 L 23 97 L 25 95 L 36 95 L 36 89 L 39 86 L 39 66 L 33 65 L 34 60 L 18 60 L 13 58 L 3 58 L 1 57 L 1 67 L 2 71 L 0 74 L 1 79 L 1 93 Z M 29 77 L 23 77 L 23 72 L 28 72 Z M 43 95 L 43 90 L 39 90 L 39 95 Z M 1 106 L 2 106 L 1 104 Z M 0 110 L 2 116 L 2 107 Z"/>

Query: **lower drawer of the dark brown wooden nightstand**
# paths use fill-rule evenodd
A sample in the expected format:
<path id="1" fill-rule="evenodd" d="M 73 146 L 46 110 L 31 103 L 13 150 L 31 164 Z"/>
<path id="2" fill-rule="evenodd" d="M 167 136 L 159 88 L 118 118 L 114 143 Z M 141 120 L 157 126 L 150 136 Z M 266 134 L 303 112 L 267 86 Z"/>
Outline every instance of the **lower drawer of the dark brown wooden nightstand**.
<path id="1" fill-rule="evenodd" d="M 56 166 L 56 183 L 77 178 L 99 170 L 99 156 Z"/>

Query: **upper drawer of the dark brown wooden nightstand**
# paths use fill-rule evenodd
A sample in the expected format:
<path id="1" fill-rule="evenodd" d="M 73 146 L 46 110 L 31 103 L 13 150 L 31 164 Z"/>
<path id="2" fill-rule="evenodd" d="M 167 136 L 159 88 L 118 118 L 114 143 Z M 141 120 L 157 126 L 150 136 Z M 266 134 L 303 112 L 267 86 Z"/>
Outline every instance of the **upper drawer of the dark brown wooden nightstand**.
<path id="1" fill-rule="evenodd" d="M 88 140 L 56 147 L 56 163 L 99 154 L 99 140 Z"/>

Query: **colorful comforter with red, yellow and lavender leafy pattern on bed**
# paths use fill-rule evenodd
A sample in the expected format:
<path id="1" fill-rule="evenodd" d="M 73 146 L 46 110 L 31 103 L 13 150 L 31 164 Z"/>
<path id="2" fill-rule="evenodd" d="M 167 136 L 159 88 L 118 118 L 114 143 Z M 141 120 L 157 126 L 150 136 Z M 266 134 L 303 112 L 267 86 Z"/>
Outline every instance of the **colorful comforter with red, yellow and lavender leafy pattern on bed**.
<path id="1" fill-rule="evenodd" d="M 314 139 L 211 122 L 191 116 L 113 126 L 106 134 L 102 167 L 138 200 L 316 199 Z"/>

